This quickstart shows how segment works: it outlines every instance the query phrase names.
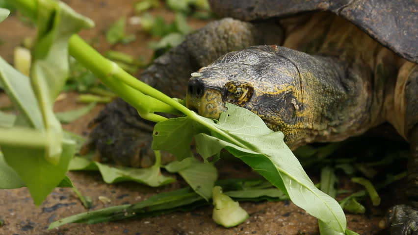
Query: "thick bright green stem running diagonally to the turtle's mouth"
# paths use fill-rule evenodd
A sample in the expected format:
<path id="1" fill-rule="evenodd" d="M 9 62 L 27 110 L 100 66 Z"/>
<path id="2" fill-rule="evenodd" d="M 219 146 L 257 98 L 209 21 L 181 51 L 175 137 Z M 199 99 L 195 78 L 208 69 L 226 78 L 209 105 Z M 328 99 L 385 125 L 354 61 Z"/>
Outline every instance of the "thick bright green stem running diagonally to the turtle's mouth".
<path id="1" fill-rule="evenodd" d="M 31 16 L 36 18 L 36 7 L 32 0 L 14 0 L 16 6 L 25 11 L 31 11 Z M 154 112 L 179 114 L 176 110 L 185 114 L 188 118 L 208 127 L 210 130 L 225 137 L 232 143 L 247 148 L 235 138 L 224 131 L 214 128 L 213 125 L 201 118 L 195 112 L 189 110 L 175 99 L 163 94 L 148 84 L 134 78 L 128 72 L 122 70 L 116 63 L 106 59 L 94 48 L 90 47 L 78 35 L 73 35 L 69 42 L 70 54 L 82 65 L 96 74 L 99 79 L 113 92 L 122 97 L 138 110 L 141 117 L 158 122 L 165 118 Z M 174 108 L 174 109 L 173 109 Z"/>

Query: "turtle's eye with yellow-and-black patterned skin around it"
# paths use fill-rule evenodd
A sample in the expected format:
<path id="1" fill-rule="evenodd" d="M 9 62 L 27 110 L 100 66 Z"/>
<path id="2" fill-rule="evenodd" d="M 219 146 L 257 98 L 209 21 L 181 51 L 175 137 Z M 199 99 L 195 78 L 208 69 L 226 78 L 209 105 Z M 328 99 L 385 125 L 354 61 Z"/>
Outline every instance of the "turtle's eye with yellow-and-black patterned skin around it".
<path id="1" fill-rule="evenodd" d="M 240 82 L 229 82 L 223 91 L 223 100 L 236 105 L 247 102 L 253 94 L 250 84 Z"/>

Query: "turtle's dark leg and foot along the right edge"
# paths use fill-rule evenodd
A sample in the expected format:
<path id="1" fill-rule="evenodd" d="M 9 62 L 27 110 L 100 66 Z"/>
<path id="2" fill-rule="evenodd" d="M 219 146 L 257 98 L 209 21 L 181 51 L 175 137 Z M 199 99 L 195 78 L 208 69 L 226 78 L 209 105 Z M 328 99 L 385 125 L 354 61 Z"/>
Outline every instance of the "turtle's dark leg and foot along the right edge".
<path id="1" fill-rule="evenodd" d="M 391 235 L 418 235 L 418 65 L 408 72 L 405 85 L 405 133 L 411 144 L 407 203 L 392 207 L 386 217 Z"/>

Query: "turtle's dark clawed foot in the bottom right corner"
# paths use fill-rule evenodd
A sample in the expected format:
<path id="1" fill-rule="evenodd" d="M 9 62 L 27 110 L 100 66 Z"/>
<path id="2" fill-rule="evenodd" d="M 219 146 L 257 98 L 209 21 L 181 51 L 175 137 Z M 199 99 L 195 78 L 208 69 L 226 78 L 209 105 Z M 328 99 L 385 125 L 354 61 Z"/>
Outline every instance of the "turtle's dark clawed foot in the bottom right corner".
<path id="1" fill-rule="evenodd" d="M 385 225 L 391 235 L 418 235 L 418 210 L 408 205 L 389 209 Z"/>

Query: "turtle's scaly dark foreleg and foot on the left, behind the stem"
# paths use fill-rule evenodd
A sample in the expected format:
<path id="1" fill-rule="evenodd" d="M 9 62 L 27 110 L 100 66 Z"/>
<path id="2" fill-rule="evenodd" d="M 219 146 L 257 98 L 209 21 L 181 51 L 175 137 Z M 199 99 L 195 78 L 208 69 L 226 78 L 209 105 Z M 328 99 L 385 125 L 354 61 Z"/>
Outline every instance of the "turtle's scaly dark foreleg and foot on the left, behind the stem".
<path id="1" fill-rule="evenodd" d="M 271 23 L 251 24 L 228 18 L 212 22 L 158 57 L 140 79 L 171 97 L 184 97 L 190 73 L 229 51 L 280 44 L 281 38 L 282 29 Z M 92 126 L 85 150 L 96 147 L 99 159 L 134 167 L 154 163 L 151 149 L 154 123 L 139 117 L 123 100 L 107 105 Z M 162 155 L 162 162 L 172 159 L 169 154 Z"/>

